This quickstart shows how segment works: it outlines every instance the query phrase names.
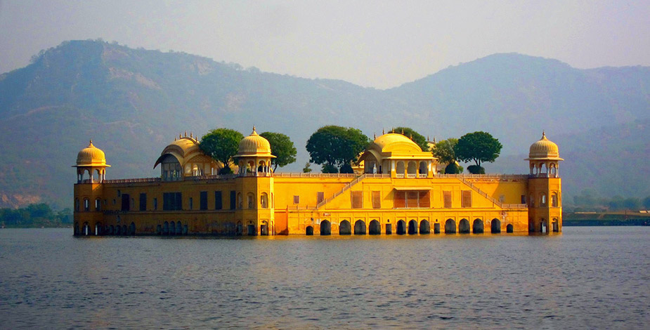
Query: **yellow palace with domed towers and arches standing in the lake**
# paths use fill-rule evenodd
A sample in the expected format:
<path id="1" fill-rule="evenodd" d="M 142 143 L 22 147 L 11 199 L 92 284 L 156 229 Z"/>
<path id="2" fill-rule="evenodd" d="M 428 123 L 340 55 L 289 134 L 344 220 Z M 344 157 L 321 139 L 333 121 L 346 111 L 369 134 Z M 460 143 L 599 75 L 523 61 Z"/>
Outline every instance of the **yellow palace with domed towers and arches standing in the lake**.
<path id="1" fill-rule="evenodd" d="M 77 155 L 74 235 L 436 235 L 561 232 L 558 147 L 542 133 L 530 173 L 440 174 L 437 159 L 388 133 L 360 155 L 358 173 L 273 173 L 271 145 L 255 128 L 234 174 L 178 136 L 160 177 L 108 180 L 91 141 Z"/>

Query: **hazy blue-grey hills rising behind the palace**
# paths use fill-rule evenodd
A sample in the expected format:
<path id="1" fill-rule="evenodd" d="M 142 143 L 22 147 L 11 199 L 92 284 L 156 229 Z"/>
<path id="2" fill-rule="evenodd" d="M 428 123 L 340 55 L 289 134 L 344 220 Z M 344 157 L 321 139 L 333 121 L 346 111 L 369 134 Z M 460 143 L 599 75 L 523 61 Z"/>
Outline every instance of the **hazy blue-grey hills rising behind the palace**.
<path id="1" fill-rule="evenodd" d="M 382 91 L 186 53 L 66 41 L 0 75 L 0 129 L 13 138 L 0 149 L 0 206 L 70 206 L 70 166 L 90 138 L 112 165 L 109 178 L 150 177 L 178 133 L 228 127 L 247 135 L 253 125 L 296 144 L 297 163 L 282 171 L 304 166 L 313 131 L 338 124 L 371 138 L 394 126 L 438 139 L 488 131 L 504 150 L 487 171 L 526 173 L 521 155 L 545 129 L 566 159 L 565 198 L 585 187 L 646 196 L 649 109 L 650 67 L 578 70 L 495 54 Z"/>

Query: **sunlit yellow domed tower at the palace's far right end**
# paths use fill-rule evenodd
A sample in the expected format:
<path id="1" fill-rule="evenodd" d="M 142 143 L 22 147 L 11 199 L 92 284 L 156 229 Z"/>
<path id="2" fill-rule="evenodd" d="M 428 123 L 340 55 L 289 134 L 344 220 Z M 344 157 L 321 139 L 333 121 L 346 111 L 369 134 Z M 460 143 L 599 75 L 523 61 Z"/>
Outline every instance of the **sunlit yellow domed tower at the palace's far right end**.
<path id="1" fill-rule="evenodd" d="M 531 145 L 526 160 L 530 167 L 528 178 L 528 231 L 562 231 L 561 179 L 559 150 L 555 143 L 542 138 Z"/>

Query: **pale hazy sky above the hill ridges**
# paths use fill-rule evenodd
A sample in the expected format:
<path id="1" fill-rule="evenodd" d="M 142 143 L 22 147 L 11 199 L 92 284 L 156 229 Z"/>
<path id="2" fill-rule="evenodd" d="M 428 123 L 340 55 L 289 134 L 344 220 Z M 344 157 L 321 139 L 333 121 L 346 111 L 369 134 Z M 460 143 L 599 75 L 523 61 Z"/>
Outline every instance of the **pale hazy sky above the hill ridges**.
<path id="1" fill-rule="evenodd" d="M 650 65 L 650 1 L 0 0 L 0 72 L 72 39 L 389 88 L 493 53 Z"/>

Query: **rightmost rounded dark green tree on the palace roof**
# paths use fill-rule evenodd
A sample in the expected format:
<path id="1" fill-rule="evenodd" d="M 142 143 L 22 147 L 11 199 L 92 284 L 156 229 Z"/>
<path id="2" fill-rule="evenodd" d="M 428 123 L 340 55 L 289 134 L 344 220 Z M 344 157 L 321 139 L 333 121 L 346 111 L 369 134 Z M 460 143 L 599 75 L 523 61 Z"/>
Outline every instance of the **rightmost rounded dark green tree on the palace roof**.
<path id="1" fill-rule="evenodd" d="M 484 161 L 493 162 L 501 152 L 502 145 L 490 133 L 477 131 L 467 133 L 458 139 L 454 147 L 457 159 L 461 161 L 474 161 L 481 167 Z"/>

